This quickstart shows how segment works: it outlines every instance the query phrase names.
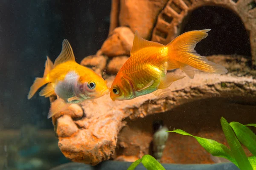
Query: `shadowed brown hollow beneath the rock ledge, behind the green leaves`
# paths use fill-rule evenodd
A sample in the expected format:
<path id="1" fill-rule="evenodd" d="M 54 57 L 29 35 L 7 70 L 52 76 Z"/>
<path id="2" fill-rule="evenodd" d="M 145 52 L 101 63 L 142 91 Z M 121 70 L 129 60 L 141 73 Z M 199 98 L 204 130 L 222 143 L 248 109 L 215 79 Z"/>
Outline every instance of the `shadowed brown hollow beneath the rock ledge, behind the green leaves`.
<path id="1" fill-rule="evenodd" d="M 221 86 L 227 88 L 224 82 Z M 179 105 L 171 111 L 129 120 L 118 136 L 117 146 L 119 147 L 116 148 L 115 157 L 128 159 L 140 156 L 141 153 L 153 156 L 153 134 L 162 126 L 166 126 L 169 130 L 182 129 L 195 136 L 226 144 L 227 141 L 219 123 L 221 116 L 230 122 L 241 122 L 244 125 L 256 122 L 256 117 L 252 114 L 256 105 L 250 105 L 255 102 L 256 99 L 253 97 L 199 99 Z M 243 115 L 242 119 L 241 115 Z M 256 132 L 255 129 L 252 130 Z M 169 134 L 164 145 L 161 163 L 214 163 L 212 156 L 192 137 Z M 244 150 L 247 155 L 251 155 L 245 147 Z"/>

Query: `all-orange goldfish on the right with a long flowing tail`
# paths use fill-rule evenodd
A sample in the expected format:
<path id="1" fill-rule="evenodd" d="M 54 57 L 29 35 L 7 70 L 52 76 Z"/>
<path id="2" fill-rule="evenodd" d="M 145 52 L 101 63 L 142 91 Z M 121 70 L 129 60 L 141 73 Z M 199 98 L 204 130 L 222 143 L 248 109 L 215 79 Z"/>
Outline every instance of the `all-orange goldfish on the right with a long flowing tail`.
<path id="1" fill-rule="evenodd" d="M 167 45 L 144 40 L 135 32 L 131 56 L 119 70 L 111 85 L 114 100 L 130 100 L 153 93 L 159 98 L 169 95 L 172 82 L 186 76 L 167 73 L 180 68 L 189 78 L 194 78 L 196 68 L 211 74 L 226 74 L 227 69 L 210 62 L 195 51 L 195 45 L 208 36 L 210 29 L 188 31 Z"/>

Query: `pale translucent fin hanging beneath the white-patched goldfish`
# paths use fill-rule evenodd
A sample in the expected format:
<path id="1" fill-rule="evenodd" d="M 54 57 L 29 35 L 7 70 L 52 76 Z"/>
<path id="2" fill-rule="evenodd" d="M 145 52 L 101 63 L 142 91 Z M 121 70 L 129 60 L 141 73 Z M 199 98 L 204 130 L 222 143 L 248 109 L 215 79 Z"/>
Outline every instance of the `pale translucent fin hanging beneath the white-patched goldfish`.
<path id="1" fill-rule="evenodd" d="M 66 103 L 63 99 L 58 98 L 57 100 L 55 100 L 54 102 L 52 102 L 51 104 L 51 108 L 49 110 L 48 116 L 47 118 L 51 118 L 52 116 L 54 116 L 56 113 L 59 113 L 61 111 L 64 111 L 65 109 L 67 109 L 71 104 Z"/>

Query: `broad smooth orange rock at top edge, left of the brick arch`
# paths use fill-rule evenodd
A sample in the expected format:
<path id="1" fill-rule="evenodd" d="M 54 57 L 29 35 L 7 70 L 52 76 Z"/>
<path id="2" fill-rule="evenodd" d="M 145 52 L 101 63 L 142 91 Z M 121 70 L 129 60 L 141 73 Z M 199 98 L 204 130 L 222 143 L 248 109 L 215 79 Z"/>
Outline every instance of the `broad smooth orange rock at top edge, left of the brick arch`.
<path id="1" fill-rule="evenodd" d="M 145 39 L 151 36 L 157 16 L 168 0 L 120 0 L 119 25 L 138 31 Z M 113 23 L 114 24 L 114 23 Z"/>

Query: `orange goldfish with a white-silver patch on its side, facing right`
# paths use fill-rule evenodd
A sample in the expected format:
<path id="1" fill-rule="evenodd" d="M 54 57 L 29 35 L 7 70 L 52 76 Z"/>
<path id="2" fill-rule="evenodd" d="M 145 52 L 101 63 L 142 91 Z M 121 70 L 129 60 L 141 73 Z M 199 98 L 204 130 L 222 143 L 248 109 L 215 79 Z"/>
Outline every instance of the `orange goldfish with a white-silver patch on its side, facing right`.
<path id="1" fill-rule="evenodd" d="M 54 64 L 47 56 L 44 77 L 35 79 L 30 87 L 28 99 L 45 84 L 47 86 L 39 95 L 49 97 L 56 94 L 58 98 L 51 105 L 48 119 L 71 104 L 96 99 L 109 92 L 107 81 L 75 61 L 73 50 L 67 40 L 63 40 L 61 53 Z"/>

